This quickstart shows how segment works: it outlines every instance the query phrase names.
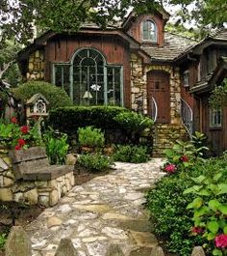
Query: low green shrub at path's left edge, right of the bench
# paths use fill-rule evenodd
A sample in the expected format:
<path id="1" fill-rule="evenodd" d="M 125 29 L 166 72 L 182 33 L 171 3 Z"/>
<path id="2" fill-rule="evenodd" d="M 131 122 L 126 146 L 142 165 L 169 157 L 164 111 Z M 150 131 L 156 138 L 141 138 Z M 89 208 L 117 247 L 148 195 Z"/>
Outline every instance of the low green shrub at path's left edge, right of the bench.
<path id="1" fill-rule="evenodd" d="M 78 164 L 92 172 L 105 171 L 114 164 L 113 159 L 109 156 L 103 156 L 99 153 L 81 155 L 78 158 Z"/>

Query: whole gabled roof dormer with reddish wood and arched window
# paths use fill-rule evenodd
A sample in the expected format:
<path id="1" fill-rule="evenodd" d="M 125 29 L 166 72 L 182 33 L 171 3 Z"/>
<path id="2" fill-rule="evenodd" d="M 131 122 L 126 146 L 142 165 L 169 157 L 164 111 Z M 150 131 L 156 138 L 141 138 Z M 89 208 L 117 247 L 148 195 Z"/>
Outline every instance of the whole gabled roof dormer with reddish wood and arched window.
<path id="1" fill-rule="evenodd" d="M 164 25 L 169 18 L 163 8 L 153 14 L 132 12 L 123 22 L 123 29 L 135 40 L 145 45 L 164 46 Z"/>

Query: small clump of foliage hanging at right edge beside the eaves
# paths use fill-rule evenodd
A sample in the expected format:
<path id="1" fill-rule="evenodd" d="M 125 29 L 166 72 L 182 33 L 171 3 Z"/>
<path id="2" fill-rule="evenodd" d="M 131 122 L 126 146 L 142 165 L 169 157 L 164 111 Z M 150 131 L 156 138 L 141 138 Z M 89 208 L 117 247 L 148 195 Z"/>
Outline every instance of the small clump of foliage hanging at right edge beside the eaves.
<path id="1" fill-rule="evenodd" d="M 214 109 L 219 109 L 227 105 L 227 78 L 220 86 L 215 86 L 209 99 L 209 104 Z"/>

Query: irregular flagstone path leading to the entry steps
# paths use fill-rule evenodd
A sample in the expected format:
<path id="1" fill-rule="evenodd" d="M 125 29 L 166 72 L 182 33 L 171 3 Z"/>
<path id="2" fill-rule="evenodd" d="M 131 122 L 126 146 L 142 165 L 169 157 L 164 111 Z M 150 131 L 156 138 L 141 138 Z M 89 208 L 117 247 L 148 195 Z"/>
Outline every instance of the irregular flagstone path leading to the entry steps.
<path id="1" fill-rule="evenodd" d="M 119 244 L 125 256 L 150 255 L 157 240 L 143 192 L 164 176 L 162 162 L 116 162 L 111 174 L 76 185 L 26 227 L 33 256 L 54 256 L 62 238 L 71 239 L 79 256 L 105 256 L 110 243 Z"/>

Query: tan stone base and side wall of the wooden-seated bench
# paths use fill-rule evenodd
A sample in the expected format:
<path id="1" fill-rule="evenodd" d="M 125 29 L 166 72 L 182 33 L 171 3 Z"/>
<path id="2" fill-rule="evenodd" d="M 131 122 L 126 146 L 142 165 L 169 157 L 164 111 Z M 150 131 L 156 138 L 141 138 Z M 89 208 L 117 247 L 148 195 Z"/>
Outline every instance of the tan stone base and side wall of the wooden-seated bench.
<path id="1" fill-rule="evenodd" d="M 54 206 L 73 185 L 73 172 L 51 181 L 16 181 L 9 151 L 0 149 L 0 201 Z"/>

